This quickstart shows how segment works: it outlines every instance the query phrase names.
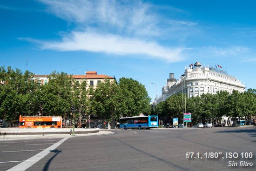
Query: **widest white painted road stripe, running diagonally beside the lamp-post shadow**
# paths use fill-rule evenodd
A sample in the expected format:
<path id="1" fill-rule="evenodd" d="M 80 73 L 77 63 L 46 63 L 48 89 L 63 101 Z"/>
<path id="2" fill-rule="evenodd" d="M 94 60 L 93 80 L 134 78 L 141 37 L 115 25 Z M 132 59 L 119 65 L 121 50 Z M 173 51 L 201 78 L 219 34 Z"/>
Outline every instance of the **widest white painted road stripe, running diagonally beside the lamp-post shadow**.
<path id="1" fill-rule="evenodd" d="M 41 151 L 40 153 L 34 155 L 31 158 L 28 158 L 26 161 L 24 161 L 20 164 L 17 164 L 16 166 L 12 167 L 11 169 L 8 169 L 7 171 L 25 171 L 26 169 L 31 167 L 33 164 L 38 162 L 40 159 L 44 158 L 47 154 L 49 154 L 51 151 L 53 151 L 55 148 L 57 148 L 63 142 L 65 142 L 68 138 L 69 137 L 61 139 L 60 141 L 58 141 L 54 145 L 51 145 L 44 151 Z"/>

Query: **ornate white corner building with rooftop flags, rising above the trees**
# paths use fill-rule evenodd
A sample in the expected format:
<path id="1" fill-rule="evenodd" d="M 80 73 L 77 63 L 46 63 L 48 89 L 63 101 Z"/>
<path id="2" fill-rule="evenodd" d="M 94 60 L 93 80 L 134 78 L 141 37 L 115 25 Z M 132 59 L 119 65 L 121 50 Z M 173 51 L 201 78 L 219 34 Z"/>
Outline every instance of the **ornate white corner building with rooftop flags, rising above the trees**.
<path id="1" fill-rule="evenodd" d="M 222 68 L 219 65 L 218 67 Z M 157 99 L 157 103 L 179 92 L 186 93 L 187 97 L 191 98 L 203 93 L 216 94 L 218 91 L 245 91 L 245 86 L 240 80 L 216 67 L 202 67 L 201 63 L 196 62 L 194 66 L 186 66 L 184 73 L 179 79 L 174 78 L 174 73 L 169 74 L 167 85 L 162 88 L 162 95 Z"/>

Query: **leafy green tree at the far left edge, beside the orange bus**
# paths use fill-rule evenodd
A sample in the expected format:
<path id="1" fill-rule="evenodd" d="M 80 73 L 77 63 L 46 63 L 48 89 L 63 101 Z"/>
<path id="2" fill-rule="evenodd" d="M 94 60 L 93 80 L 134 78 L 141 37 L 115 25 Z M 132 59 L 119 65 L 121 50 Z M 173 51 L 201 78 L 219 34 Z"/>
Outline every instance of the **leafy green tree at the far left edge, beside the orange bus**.
<path id="1" fill-rule="evenodd" d="M 24 74 L 9 66 L 0 67 L 0 114 L 6 121 L 18 119 L 19 115 L 31 115 L 39 109 L 37 90 L 39 84 L 34 81 L 34 74 Z"/>

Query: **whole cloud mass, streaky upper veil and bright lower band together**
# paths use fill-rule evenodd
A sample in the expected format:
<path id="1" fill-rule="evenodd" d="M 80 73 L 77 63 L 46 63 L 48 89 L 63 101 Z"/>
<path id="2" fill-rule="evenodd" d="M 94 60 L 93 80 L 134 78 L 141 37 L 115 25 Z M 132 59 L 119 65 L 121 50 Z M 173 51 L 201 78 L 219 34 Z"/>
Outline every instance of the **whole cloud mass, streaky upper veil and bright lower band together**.
<path id="1" fill-rule="evenodd" d="M 195 22 L 185 20 L 166 19 L 157 13 L 151 4 L 139 0 L 39 1 L 46 5 L 47 13 L 54 14 L 67 22 L 73 22 L 76 26 L 70 33 L 60 35 L 60 41 L 18 38 L 39 44 L 42 49 L 117 55 L 138 54 L 175 62 L 184 59 L 183 52 L 186 48 L 162 45 L 158 41 L 159 37 L 169 33 L 175 35 L 173 38 L 177 39 L 181 30 L 186 32 L 188 27 L 197 25 Z M 170 9 L 179 12 L 177 8 Z M 163 22 L 164 26 L 162 26 Z M 181 37 L 179 39 L 182 39 Z"/>

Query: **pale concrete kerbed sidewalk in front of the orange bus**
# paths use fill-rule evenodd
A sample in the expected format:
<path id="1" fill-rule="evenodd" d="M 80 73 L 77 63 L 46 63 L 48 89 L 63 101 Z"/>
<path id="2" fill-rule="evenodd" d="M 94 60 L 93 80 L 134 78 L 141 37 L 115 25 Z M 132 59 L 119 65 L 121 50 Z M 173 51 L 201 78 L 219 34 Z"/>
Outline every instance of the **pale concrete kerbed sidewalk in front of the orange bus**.
<path id="1" fill-rule="evenodd" d="M 72 128 L 0 128 L 0 140 L 78 137 L 113 132 L 101 131 L 99 128 L 75 128 L 75 136 L 72 136 L 72 133 Z"/>

